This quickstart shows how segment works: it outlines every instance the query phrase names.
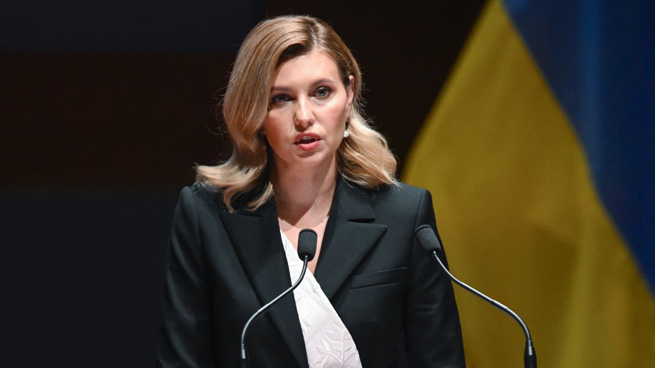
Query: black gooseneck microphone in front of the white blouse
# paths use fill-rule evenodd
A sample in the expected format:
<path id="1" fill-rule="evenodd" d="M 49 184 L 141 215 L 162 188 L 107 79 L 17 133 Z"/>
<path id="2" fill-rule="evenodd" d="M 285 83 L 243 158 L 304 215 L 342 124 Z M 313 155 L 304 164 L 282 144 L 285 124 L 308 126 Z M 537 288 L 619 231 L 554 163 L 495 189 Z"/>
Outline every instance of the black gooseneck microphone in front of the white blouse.
<path id="1" fill-rule="evenodd" d="M 305 278 L 305 272 L 307 272 L 307 263 L 314 259 L 314 255 L 316 255 L 317 241 L 318 235 L 316 235 L 316 231 L 312 229 L 300 230 L 300 234 L 298 235 L 298 257 L 303 260 L 303 270 L 300 272 L 300 277 L 298 278 L 298 281 L 291 285 L 290 288 L 286 289 L 284 293 L 278 295 L 275 299 L 259 308 L 257 312 L 255 312 L 255 314 L 250 317 L 250 320 L 246 322 L 246 325 L 244 325 L 244 330 L 241 333 L 241 350 L 238 358 L 239 368 L 250 367 L 250 359 L 248 359 L 248 352 L 246 351 L 246 333 L 248 333 L 248 327 L 250 327 L 250 325 L 252 325 L 252 323 L 255 322 L 255 320 L 257 320 L 257 318 L 259 318 L 262 314 L 266 313 L 273 304 L 286 297 L 286 295 L 291 293 L 293 289 L 300 285 L 300 283 L 303 281 L 303 278 Z"/>

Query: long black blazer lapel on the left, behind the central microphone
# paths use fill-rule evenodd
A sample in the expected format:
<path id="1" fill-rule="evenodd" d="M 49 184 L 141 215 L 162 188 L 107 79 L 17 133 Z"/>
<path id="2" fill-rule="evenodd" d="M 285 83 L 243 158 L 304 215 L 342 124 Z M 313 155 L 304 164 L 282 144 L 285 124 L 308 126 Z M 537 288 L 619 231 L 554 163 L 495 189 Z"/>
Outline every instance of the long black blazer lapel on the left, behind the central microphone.
<path id="1" fill-rule="evenodd" d="M 220 216 L 261 305 L 269 303 L 291 287 L 274 201 L 269 200 L 254 213 L 221 212 Z M 267 315 L 280 331 L 299 366 L 307 367 L 305 340 L 293 295 L 278 301 Z"/>

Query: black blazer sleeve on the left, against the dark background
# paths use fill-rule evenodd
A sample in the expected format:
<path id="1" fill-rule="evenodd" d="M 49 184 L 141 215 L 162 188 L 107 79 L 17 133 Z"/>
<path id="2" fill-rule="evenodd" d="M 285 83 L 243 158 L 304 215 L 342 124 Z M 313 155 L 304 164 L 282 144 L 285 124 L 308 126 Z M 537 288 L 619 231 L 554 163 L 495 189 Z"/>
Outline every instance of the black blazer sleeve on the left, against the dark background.
<path id="1" fill-rule="evenodd" d="M 210 296 L 193 193 L 185 187 L 173 218 L 166 259 L 157 367 L 215 367 Z"/>

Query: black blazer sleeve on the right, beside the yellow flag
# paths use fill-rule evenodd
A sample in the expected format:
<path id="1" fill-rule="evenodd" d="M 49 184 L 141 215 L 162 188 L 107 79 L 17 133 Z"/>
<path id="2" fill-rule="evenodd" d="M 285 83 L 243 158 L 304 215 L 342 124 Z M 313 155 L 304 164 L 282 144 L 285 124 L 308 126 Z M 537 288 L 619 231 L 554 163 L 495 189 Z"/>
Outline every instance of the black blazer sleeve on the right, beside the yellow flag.
<path id="1" fill-rule="evenodd" d="M 428 191 L 421 196 L 415 229 L 424 224 L 437 231 L 432 195 Z M 405 297 L 405 348 L 409 367 L 463 368 L 466 366 L 464 345 L 453 285 L 434 259 L 415 239 L 413 242 Z M 445 255 L 440 257 L 445 263 Z"/>

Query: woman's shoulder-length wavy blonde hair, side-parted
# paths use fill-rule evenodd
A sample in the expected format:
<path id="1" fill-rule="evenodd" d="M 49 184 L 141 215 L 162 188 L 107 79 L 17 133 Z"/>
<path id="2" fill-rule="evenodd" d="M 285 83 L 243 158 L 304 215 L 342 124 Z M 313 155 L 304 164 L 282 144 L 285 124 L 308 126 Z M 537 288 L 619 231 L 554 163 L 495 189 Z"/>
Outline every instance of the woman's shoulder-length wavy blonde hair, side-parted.
<path id="1" fill-rule="evenodd" d="M 280 16 L 264 20 L 250 31 L 234 60 L 223 98 L 223 118 L 233 146 L 229 160 L 217 166 L 197 166 L 198 183 L 223 191 L 223 202 L 234 211 L 233 200 L 249 196 L 248 207 L 259 208 L 275 190 L 271 182 L 272 153 L 260 134 L 269 107 L 272 78 L 277 67 L 295 56 L 320 48 L 339 69 L 345 86 L 353 77 L 353 102 L 348 131 L 337 150 L 337 170 L 362 187 L 396 183 L 396 158 L 386 139 L 362 117 L 362 73 L 341 37 L 322 20 L 310 16 Z"/>

